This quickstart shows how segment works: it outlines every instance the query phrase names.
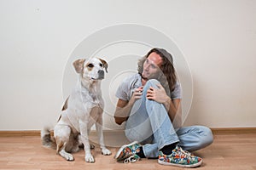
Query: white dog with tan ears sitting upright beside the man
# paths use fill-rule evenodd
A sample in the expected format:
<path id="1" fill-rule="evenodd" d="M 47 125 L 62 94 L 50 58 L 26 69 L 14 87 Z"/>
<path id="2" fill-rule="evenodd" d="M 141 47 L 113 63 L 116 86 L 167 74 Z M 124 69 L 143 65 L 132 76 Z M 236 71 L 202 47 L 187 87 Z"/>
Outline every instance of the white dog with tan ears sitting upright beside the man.
<path id="1" fill-rule="evenodd" d="M 108 72 L 108 63 L 99 58 L 77 59 L 73 66 L 79 74 L 79 82 L 62 108 L 54 127 L 54 137 L 50 135 L 49 127 L 44 127 L 41 139 L 44 146 L 55 148 L 56 153 L 67 161 L 73 161 L 71 153 L 79 151 L 79 146 L 84 145 L 85 161 L 95 162 L 89 142 L 90 127 L 94 124 L 102 154 L 111 155 L 111 151 L 105 147 L 102 133 L 104 101 L 101 82 L 105 71 Z"/>

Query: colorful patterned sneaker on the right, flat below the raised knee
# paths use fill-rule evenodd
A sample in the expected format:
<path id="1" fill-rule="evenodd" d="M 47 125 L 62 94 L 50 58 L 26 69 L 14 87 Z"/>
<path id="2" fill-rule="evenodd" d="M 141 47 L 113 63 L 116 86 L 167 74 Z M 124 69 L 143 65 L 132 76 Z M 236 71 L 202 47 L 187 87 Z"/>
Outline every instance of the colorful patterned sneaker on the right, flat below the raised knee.
<path id="1" fill-rule="evenodd" d="M 159 151 L 158 162 L 162 165 L 172 165 L 177 167 L 199 167 L 202 163 L 202 159 L 201 157 L 193 156 L 188 151 L 176 146 L 169 156 L 166 156 L 162 151 Z"/>

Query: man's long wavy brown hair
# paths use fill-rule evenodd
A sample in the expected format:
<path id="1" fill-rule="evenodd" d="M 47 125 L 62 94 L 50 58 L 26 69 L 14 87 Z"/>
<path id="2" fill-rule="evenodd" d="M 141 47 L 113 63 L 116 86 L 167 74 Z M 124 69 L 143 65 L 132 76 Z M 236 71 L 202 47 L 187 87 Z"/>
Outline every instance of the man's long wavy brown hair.
<path id="1" fill-rule="evenodd" d="M 163 48 L 153 48 L 148 54 L 146 54 L 142 59 L 138 60 L 137 63 L 137 71 L 140 75 L 143 73 L 143 64 L 145 60 L 148 58 L 148 55 L 151 53 L 159 54 L 162 59 L 162 64 L 160 65 L 161 74 L 158 77 L 158 81 L 162 84 L 162 86 L 166 89 L 166 94 L 171 94 L 171 92 L 175 88 L 175 83 L 177 82 L 176 72 L 173 66 L 172 54 L 169 54 Z"/>

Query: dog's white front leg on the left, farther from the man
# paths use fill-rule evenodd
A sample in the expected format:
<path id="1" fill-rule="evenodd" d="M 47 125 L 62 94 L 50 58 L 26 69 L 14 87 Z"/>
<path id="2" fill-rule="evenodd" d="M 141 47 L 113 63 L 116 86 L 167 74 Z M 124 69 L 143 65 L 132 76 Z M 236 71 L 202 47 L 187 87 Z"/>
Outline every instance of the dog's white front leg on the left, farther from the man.
<path id="1" fill-rule="evenodd" d="M 84 144 L 84 152 L 85 152 L 85 161 L 94 163 L 94 158 L 90 153 L 90 142 L 89 142 L 89 134 L 88 134 L 88 127 L 86 122 L 79 121 L 80 126 L 80 133 L 81 133 L 81 140 Z"/>

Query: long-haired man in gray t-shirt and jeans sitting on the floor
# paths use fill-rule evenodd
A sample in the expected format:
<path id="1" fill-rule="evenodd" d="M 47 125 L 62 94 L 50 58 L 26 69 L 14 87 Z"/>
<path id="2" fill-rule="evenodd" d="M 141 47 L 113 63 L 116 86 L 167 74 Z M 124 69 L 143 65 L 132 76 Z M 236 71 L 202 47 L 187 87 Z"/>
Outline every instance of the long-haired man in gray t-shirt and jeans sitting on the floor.
<path id="1" fill-rule="evenodd" d="M 182 94 L 172 62 L 172 55 L 165 49 L 153 48 L 139 60 L 138 73 L 119 85 L 115 122 L 126 122 L 125 136 L 134 142 L 119 149 L 117 161 L 158 157 L 164 165 L 201 165 L 202 159 L 189 151 L 211 144 L 212 131 L 202 126 L 173 126 L 180 117 L 177 111 Z"/>

